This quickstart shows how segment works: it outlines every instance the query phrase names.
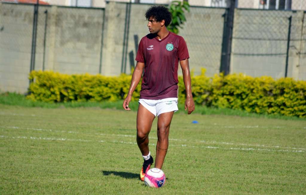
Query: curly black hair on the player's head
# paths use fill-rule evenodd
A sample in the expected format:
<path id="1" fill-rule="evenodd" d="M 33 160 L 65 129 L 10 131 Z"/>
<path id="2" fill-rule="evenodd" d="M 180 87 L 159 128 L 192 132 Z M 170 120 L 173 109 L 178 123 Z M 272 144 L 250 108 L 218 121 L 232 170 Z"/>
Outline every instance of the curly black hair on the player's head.
<path id="1" fill-rule="evenodd" d="M 165 20 L 165 26 L 168 26 L 172 20 L 172 14 L 165 6 L 151 6 L 147 10 L 145 16 L 147 20 L 149 20 L 150 17 L 154 18 L 158 22 Z"/>

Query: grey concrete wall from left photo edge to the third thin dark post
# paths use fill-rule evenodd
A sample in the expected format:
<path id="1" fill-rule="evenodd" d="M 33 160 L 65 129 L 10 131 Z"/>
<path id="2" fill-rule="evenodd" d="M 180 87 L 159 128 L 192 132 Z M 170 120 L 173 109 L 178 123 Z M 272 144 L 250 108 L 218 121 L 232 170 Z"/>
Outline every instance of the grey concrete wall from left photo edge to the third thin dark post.
<path id="1" fill-rule="evenodd" d="M 27 92 L 33 10 L 33 5 L 0 3 L 1 91 Z M 104 9 L 39 6 L 35 70 L 42 70 L 44 65 L 45 70 L 67 74 L 99 73 L 103 12 Z"/>

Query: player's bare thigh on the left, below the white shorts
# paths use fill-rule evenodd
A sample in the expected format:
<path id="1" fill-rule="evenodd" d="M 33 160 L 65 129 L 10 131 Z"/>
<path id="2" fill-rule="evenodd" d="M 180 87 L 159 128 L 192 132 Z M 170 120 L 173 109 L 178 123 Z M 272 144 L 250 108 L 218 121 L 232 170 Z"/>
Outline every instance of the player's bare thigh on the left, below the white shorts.
<path id="1" fill-rule="evenodd" d="M 137 131 L 147 134 L 150 132 L 155 115 L 139 104 L 137 112 Z"/>

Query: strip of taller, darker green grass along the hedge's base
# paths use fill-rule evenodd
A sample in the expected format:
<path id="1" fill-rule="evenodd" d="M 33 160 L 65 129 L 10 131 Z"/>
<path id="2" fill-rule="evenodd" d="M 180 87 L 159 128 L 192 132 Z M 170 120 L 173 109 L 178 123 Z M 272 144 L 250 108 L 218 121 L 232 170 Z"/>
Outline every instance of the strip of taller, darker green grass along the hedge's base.
<path id="1" fill-rule="evenodd" d="M 23 106 L 23 107 L 42 107 L 42 108 L 76 108 L 76 107 L 97 107 L 97 108 L 111 108 L 122 110 L 122 101 L 117 102 L 66 102 L 66 103 L 46 103 L 39 101 L 32 101 L 26 99 L 24 95 L 16 93 L 2 93 L 0 94 L 0 104 Z M 129 107 L 136 111 L 138 108 L 138 102 L 130 102 Z M 185 105 L 178 104 L 179 111 L 177 113 L 186 113 Z M 304 120 L 306 118 L 298 118 L 295 116 L 283 116 L 280 114 L 257 114 L 249 113 L 247 111 L 234 110 L 230 108 L 216 108 L 196 105 L 194 113 L 205 114 L 205 115 L 230 115 L 230 116 L 241 116 L 241 117 L 255 117 L 255 118 L 276 118 L 283 120 Z"/>

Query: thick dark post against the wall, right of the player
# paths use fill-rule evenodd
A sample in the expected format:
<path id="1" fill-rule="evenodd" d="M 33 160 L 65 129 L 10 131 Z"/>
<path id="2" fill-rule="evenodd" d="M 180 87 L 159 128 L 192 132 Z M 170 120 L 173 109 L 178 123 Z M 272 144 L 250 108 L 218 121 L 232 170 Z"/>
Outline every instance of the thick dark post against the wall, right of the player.
<path id="1" fill-rule="evenodd" d="M 230 55 L 232 48 L 232 36 L 233 36 L 233 20 L 235 11 L 236 0 L 230 0 L 230 8 L 226 9 L 224 15 L 224 27 L 223 27 L 223 40 L 222 40 L 222 52 L 221 52 L 221 65 L 220 72 L 224 75 L 230 73 Z"/>

